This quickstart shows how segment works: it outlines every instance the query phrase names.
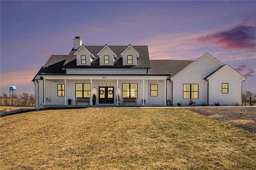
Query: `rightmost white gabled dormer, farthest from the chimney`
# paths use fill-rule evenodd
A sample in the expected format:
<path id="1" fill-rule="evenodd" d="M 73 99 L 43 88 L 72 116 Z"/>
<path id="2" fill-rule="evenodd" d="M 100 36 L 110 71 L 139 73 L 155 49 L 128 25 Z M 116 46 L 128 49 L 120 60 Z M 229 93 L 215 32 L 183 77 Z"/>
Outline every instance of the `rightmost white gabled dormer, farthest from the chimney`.
<path id="1" fill-rule="evenodd" d="M 121 53 L 120 56 L 123 59 L 123 66 L 136 66 L 137 59 L 139 58 L 140 53 L 132 47 L 132 45 L 128 45 Z"/>

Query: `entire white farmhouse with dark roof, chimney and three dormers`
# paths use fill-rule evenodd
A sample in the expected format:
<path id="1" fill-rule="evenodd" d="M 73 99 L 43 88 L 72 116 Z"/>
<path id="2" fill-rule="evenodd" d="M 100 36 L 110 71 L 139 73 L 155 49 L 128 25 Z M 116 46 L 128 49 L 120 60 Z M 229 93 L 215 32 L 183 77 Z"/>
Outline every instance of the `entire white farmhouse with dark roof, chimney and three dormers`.
<path id="1" fill-rule="evenodd" d="M 32 81 L 38 108 L 241 105 L 244 80 L 208 53 L 196 61 L 150 60 L 148 46 L 88 46 L 75 37 L 70 54 L 52 55 Z"/>

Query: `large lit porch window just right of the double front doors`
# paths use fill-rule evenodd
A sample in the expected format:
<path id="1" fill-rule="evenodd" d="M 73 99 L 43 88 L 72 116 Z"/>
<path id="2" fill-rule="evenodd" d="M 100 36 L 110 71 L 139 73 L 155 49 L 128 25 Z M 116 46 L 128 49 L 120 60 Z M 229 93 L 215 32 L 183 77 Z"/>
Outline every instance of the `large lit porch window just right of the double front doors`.
<path id="1" fill-rule="evenodd" d="M 138 84 L 122 84 L 122 98 L 138 98 Z"/>

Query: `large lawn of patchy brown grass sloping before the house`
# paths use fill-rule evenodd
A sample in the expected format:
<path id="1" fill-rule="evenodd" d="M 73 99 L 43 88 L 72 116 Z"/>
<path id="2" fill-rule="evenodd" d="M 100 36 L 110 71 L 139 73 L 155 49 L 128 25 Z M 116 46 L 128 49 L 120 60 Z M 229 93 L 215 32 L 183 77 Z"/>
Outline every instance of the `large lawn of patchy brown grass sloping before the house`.
<path id="1" fill-rule="evenodd" d="M 1 118 L 0 169 L 254 169 L 256 135 L 181 108 Z"/>

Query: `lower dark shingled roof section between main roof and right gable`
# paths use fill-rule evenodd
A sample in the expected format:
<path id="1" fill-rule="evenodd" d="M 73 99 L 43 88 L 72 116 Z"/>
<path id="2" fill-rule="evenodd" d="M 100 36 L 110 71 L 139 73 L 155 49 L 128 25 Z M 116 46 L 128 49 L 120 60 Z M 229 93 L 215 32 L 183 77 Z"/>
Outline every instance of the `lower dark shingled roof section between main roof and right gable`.
<path id="1" fill-rule="evenodd" d="M 187 60 L 150 60 L 151 68 L 148 69 L 148 75 L 174 76 L 192 62 Z"/>

